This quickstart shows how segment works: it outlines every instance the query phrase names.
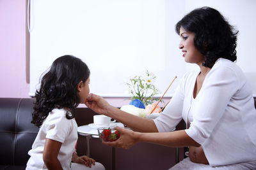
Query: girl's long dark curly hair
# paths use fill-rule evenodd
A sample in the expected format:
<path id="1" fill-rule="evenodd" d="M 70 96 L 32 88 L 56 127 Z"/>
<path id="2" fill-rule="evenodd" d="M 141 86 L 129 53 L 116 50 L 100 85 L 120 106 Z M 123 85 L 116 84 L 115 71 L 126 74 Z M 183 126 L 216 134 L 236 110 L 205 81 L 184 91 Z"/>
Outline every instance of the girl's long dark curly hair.
<path id="1" fill-rule="evenodd" d="M 43 76 L 40 89 L 36 90 L 36 101 L 32 113 L 32 124 L 40 127 L 54 108 L 68 108 L 66 117 L 74 118 L 80 103 L 77 85 L 90 76 L 90 70 L 81 60 L 64 55 L 54 60 L 51 69 Z"/>

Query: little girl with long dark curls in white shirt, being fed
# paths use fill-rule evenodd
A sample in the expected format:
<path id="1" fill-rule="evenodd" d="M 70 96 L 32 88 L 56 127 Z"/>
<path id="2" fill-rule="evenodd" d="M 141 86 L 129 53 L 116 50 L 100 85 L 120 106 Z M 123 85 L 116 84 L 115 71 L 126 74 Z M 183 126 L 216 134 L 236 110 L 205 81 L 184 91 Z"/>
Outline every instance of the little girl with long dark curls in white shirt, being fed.
<path id="1" fill-rule="evenodd" d="M 54 60 L 42 78 L 40 90 L 36 90 L 31 123 L 40 130 L 28 152 L 31 157 L 26 169 L 105 169 L 75 152 L 74 117 L 76 107 L 84 103 L 90 92 L 89 81 L 90 70 L 81 59 L 65 55 Z"/>

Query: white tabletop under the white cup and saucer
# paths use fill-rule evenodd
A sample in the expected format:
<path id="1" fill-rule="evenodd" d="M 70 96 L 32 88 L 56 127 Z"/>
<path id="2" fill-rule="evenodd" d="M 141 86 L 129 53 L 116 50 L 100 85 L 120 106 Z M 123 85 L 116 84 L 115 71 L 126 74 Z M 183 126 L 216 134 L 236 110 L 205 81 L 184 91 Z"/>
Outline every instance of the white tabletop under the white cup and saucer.
<path id="1" fill-rule="evenodd" d="M 116 126 L 124 127 L 124 124 L 122 124 L 122 123 L 113 123 L 113 124 L 111 124 L 111 127 L 116 127 Z M 97 128 L 98 127 L 92 127 L 90 125 L 81 125 L 77 128 L 77 132 L 80 135 L 92 134 L 94 138 L 97 138 L 96 136 L 99 136 Z"/>

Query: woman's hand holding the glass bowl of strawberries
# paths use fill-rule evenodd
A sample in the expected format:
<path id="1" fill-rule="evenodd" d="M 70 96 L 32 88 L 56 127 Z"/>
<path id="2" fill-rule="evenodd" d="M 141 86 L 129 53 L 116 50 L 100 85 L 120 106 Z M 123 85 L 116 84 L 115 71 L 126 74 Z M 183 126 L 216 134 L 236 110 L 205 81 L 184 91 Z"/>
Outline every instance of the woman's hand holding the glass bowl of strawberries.
<path id="1" fill-rule="evenodd" d="M 124 129 L 122 127 L 116 126 L 115 129 L 120 132 L 121 136 L 119 139 L 113 142 L 102 141 L 104 145 L 114 146 L 118 148 L 129 149 L 132 145 L 138 142 L 139 132 L 134 132 L 132 130 Z"/>

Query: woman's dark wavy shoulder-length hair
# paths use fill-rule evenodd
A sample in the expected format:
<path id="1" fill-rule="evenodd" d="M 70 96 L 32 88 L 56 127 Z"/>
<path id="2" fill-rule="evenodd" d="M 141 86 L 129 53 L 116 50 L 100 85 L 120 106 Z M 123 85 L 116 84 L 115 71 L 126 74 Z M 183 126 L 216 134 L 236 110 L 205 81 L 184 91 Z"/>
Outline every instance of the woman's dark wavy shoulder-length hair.
<path id="1" fill-rule="evenodd" d="M 211 68 L 219 58 L 236 60 L 238 31 L 219 11 L 209 7 L 197 8 L 175 25 L 177 34 L 180 34 L 180 27 L 195 33 L 195 47 L 204 55 L 203 66 Z"/>

